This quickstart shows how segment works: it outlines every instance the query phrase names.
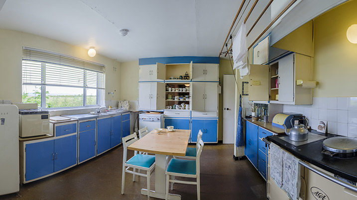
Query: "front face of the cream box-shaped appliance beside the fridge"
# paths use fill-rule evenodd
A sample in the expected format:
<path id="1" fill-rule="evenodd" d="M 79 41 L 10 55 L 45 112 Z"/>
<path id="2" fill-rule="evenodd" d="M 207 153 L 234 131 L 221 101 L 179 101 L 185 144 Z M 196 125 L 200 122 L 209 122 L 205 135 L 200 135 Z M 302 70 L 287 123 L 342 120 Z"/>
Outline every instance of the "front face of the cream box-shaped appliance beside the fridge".
<path id="1" fill-rule="evenodd" d="M 45 135 L 50 133 L 48 114 L 32 114 L 20 116 L 20 137 Z"/>

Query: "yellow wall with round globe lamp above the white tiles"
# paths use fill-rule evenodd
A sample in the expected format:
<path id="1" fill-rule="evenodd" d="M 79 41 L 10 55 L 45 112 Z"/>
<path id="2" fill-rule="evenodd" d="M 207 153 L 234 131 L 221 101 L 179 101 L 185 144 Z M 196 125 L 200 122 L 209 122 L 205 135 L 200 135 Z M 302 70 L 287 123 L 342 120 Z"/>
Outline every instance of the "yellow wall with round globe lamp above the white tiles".
<path id="1" fill-rule="evenodd" d="M 357 96 L 357 44 L 346 31 L 357 24 L 357 0 L 350 0 L 314 20 L 314 97 Z"/>

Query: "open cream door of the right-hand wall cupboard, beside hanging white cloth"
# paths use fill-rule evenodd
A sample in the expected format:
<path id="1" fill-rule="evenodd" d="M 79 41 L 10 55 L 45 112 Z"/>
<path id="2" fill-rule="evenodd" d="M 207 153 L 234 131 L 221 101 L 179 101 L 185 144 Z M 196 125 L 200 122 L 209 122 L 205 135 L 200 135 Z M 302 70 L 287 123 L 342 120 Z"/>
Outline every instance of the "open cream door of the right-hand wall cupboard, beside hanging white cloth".
<path id="1" fill-rule="evenodd" d="M 250 65 L 249 101 L 269 101 L 269 66 Z"/>

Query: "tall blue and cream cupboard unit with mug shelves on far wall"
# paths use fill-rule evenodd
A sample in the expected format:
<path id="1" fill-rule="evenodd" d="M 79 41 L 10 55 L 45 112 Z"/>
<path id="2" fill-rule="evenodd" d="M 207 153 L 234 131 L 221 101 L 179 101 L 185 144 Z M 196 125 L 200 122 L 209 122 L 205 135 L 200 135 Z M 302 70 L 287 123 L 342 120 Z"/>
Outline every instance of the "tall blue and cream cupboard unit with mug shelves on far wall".
<path id="1" fill-rule="evenodd" d="M 218 57 L 139 59 L 139 110 L 164 112 L 164 125 L 218 142 Z M 197 133 L 196 133 L 197 132 Z"/>

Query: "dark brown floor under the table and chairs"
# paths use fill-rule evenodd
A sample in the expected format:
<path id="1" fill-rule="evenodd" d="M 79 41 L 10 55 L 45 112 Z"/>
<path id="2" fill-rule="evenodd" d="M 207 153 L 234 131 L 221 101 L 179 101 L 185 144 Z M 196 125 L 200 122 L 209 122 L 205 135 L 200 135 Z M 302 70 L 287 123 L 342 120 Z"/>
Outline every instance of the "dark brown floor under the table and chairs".
<path id="1" fill-rule="evenodd" d="M 133 152 L 129 151 L 128 156 Z M 140 195 L 146 178 L 125 176 L 121 195 L 122 145 L 59 174 L 20 186 L 18 193 L 0 199 L 19 200 L 147 200 Z M 154 189 L 154 174 L 151 189 Z M 195 185 L 174 184 L 173 194 L 196 200 Z M 154 200 L 155 198 L 151 198 Z M 266 200 L 265 181 L 245 159 L 233 160 L 233 144 L 205 145 L 201 155 L 202 200 Z"/>

